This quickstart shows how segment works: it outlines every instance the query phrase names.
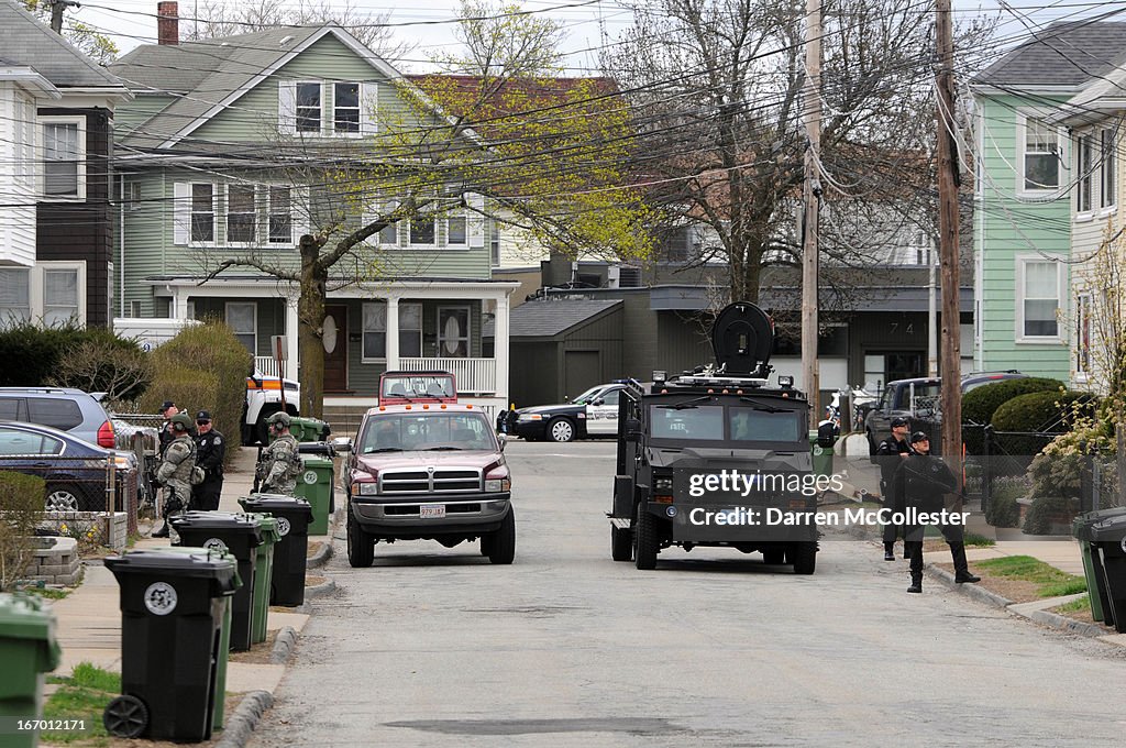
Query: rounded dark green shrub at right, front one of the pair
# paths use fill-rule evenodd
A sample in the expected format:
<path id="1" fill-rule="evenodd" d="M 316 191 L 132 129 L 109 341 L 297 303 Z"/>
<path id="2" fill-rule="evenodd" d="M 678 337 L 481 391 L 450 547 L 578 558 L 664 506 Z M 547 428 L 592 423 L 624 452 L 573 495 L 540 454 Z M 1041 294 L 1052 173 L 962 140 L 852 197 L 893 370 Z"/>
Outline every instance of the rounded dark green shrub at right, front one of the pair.
<path id="1" fill-rule="evenodd" d="M 1052 440 L 1049 435 L 1067 431 L 1094 411 L 1097 399 L 1085 392 L 1030 392 L 1009 400 L 993 413 L 994 437 L 1000 452 L 1035 455 Z M 1030 436 L 1009 436 L 1018 431 Z M 1043 435 L 1043 436 L 1042 436 Z"/>

